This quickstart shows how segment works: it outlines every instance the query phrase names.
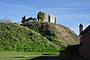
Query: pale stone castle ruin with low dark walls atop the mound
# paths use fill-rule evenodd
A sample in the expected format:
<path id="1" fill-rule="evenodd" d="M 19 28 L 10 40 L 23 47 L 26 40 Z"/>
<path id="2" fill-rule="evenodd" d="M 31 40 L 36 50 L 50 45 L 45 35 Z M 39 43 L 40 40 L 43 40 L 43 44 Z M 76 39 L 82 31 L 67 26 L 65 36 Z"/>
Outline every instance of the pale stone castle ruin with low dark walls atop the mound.
<path id="1" fill-rule="evenodd" d="M 43 13 L 43 12 L 41 12 L 41 13 Z M 39 13 L 38 13 L 39 14 Z M 42 21 L 42 22 L 50 22 L 50 23 L 55 23 L 56 24 L 56 17 L 54 16 L 54 15 L 52 15 L 52 14 L 45 14 L 44 13 L 44 18 L 43 18 L 43 20 L 42 19 L 40 19 L 40 16 L 42 15 L 39 15 L 38 16 L 38 14 L 37 14 L 37 19 L 36 18 L 32 18 L 32 17 L 30 17 L 30 18 L 28 18 L 28 19 L 26 19 L 26 17 L 25 16 L 23 16 L 22 17 L 22 23 L 25 23 L 26 21 L 29 21 L 29 22 L 32 22 L 32 21 Z"/>

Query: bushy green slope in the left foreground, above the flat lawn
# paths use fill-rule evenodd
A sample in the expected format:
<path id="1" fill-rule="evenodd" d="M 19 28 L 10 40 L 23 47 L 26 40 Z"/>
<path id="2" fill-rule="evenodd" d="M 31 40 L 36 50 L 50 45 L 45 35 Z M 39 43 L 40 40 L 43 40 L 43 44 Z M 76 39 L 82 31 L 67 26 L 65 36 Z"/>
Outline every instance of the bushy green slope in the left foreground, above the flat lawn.
<path id="1" fill-rule="evenodd" d="M 57 52 L 59 48 L 39 33 L 17 23 L 0 23 L 0 51 Z"/>

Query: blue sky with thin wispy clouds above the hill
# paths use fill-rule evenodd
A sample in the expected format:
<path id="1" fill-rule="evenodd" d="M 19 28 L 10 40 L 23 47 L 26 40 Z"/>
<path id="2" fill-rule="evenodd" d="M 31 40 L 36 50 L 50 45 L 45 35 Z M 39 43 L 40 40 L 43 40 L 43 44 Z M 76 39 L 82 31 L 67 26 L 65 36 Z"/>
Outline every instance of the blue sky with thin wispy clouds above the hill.
<path id="1" fill-rule="evenodd" d="M 37 17 L 39 11 L 56 16 L 57 24 L 79 34 L 78 25 L 90 24 L 90 0 L 0 0 L 0 19 L 20 23 L 22 16 Z"/>

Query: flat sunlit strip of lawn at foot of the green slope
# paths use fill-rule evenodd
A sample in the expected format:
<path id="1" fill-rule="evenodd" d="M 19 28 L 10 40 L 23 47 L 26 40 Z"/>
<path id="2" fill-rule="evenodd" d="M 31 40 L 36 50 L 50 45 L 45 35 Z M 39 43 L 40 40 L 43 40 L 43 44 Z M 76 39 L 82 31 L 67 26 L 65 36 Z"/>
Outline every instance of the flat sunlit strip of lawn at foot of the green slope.
<path id="1" fill-rule="evenodd" d="M 0 52 L 0 60 L 28 60 L 47 53 L 50 52 Z M 59 52 L 53 52 L 50 54 L 58 55 Z"/>

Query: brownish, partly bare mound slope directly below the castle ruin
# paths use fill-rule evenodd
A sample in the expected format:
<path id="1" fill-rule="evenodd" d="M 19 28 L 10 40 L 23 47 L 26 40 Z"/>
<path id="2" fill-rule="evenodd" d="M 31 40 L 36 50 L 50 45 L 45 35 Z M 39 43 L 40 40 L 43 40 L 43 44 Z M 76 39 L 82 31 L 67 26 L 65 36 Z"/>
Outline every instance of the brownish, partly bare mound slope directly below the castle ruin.
<path id="1" fill-rule="evenodd" d="M 63 25 L 48 22 L 26 22 L 24 26 L 40 33 L 60 48 L 79 44 L 78 36 Z"/>

